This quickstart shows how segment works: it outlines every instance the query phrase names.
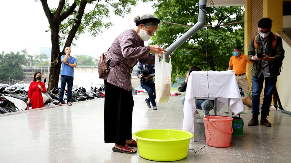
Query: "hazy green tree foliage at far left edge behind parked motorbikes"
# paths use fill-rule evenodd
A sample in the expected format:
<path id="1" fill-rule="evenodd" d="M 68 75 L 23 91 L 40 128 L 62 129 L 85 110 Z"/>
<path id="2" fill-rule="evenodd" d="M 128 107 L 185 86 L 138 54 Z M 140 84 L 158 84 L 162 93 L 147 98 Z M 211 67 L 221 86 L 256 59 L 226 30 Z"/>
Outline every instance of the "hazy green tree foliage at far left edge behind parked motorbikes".
<path id="1" fill-rule="evenodd" d="M 0 80 L 18 79 L 23 76 L 23 69 L 21 65 L 26 64 L 25 54 L 13 52 L 4 54 L 1 53 L 0 57 Z"/>

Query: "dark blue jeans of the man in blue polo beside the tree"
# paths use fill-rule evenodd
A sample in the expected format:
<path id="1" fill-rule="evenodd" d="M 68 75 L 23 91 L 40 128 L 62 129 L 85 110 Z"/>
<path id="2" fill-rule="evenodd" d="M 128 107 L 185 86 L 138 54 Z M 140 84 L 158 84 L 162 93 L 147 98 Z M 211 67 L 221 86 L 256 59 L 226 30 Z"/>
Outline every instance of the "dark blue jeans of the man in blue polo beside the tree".
<path id="1" fill-rule="evenodd" d="M 67 99 L 67 103 L 71 102 L 72 100 L 72 88 L 73 88 L 73 81 L 74 81 L 74 77 L 72 76 L 65 76 L 62 75 L 61 76 L 61 90 L 60 90 L 60 94 L 58 97 L 58 101 L 61 103 L 64 103 L 63 98 L 64 98 L 64 91 L 65 91 L 65 87 L 66 87 L 66 83 L 68 84 L 68 99 Z"/>

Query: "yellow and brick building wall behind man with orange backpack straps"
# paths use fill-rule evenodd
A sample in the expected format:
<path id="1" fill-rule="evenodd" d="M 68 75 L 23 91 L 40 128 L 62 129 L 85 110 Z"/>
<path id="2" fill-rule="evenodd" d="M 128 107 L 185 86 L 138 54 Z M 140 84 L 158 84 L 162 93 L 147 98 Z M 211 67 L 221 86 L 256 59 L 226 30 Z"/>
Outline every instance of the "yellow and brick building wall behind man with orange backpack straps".
<path id="1" fill-rule="evenodd" d="M 247 0 L 246 1 L 246 25 L 245 25 L 245 32 L 250 33 L 250 35 L 245 34 L 245 47 L 249 45 L 250 38 L 258 35 L 258 21 L 263 17 L 270 18 L 272 22 L 272 29 L 271 31 L 276 34 L 277 32 L 284 35 L 281 31 L 283 30 L 283 1 L 282 0 Z M 250 20 L 249 20 L 250 19 Z M 278 33 L 277 33 L 278 34 Z M 285 35 L 287 37 L 287 35 Z M 290 38 L 286 38 L 286 40 L 290 41 Z M 286 43 L 283 41 L 283 48 L 285 49 L 285 59 L 283 63 L 290 62 L 290 43 Z M 245 48 L 247 49 L 247 48 Z M 247 54 L 247 52 L 246 52 Z M 289 69 L 289 65 L 286 66 Z M 248 71 L 251 69 L 251 65 L 247 66 Z M 283 71 L 284 69 L 282 69 Z M 279 97 L 281 99 L 281 104 L 285 107 L 291 108 L 290 102 L 290 92 L 291 87 L 288 85 L 287 81 L 290 81 L 290 75 L 285 69 L 285 72 L 281 72 L 281 75 L 278 77 L 277 81 L 277 91 Z M 248 74 L 248 78 L 251 83 L 251 75 Z M 263 92 L 263 90 L 262 90 Z M 263 93 L 261 93 L 261 104 L 262 104 Z"/>

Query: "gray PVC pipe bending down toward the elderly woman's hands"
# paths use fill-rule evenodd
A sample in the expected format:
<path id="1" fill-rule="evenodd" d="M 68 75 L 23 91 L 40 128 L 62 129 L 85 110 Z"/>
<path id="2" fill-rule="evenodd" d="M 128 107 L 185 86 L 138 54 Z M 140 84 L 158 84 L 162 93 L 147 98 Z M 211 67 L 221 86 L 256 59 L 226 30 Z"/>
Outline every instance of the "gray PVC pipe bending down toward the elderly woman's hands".
<path id="1" fill-rule="evenodd" d="M 205 7 L 204 7 L 205 6 Z M 201 7 L 203 9 L 201 9 Z M 164 52 L 165 59 L 169 58 L 169 55 L 176 50 L 179 46 L 181 46 L 186 40 L 188 40 L 192 35 L 194 35 L 198 30 L 203 28 L 205 25 L 205 16 L 206 16 L 206 0 L 200 0 L 200 7 L 198 12 L 198 22 L 190 28 L 186 33 L 184 33 L 181 37 L 179 37 L 175 42 L 173 42 L 170 46 L 168 46 Z"/>

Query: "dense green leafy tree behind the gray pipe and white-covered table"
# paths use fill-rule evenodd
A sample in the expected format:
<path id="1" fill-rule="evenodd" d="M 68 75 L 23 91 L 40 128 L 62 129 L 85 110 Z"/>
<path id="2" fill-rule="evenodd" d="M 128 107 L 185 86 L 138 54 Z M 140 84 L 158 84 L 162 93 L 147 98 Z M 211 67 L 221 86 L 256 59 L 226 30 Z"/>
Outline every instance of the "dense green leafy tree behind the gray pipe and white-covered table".
<path id="1" fill-rule="evenodd" d="M 198 0 L 158 0 L 155 16 L 165 22 L 160 23 L 159 30 L 153 36 L 151 44 L 164 48 L 172 44 L 179 36 L 198 20 Z M 186 5 L 185 5 L 186 4 Z M 243 22 L 225 25 L 244 20 L 243 7 L 208 7 L 204 27 L 177 48 L 172 54 L 172 79 L 183 76 L 189 68 L 197 65 L 202 70 L 227 70 L 230 57 L 235 46 L 244 45 Z M 212 26 L 213 25 L 213 26 Z M 208 29 L 207 57 L 204 51 Z M 208 65 L 208 67 L 207 67 Z"/>

